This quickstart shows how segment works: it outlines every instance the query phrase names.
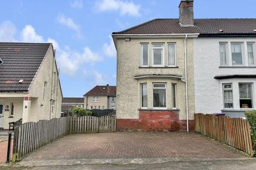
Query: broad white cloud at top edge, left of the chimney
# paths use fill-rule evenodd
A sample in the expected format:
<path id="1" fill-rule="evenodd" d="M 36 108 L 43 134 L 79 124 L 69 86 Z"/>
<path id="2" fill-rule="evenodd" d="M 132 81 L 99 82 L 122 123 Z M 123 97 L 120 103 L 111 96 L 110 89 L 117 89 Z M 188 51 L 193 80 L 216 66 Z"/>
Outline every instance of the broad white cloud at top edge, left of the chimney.
<path id="1" fill-rule="evenodd" d="M 101 0 L 96 4 L 98 11 L 119 11 L 121 15 L 140 15 L 140 4 L 134 4 L 133 2 L 121 1 L 121 0 Z"/>

